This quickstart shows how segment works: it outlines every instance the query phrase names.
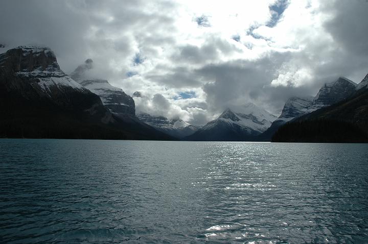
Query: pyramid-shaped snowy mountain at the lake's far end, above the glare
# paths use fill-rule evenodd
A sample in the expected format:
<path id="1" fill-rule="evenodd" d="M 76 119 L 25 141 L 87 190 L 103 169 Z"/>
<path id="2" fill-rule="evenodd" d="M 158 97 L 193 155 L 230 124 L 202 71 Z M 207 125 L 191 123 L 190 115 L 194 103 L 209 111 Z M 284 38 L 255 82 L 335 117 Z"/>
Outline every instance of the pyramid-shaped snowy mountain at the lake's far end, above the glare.
<path id="1" fill-rule="evenodd" d="M 246 141 L 257 140 L 257 136 L 271 126 L 276 116 L 247 104 L 241 111 L 226 109 L 217 119 L 210 121 L 193 135 L 185 137 L 193 141 Z"/>

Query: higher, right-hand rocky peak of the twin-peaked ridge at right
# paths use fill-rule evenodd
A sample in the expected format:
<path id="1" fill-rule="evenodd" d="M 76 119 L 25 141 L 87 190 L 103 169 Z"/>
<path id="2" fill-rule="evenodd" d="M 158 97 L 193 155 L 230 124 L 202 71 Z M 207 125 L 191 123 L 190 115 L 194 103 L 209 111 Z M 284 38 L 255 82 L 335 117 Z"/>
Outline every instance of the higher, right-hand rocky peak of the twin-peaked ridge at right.
<path id="1" fill-rule="evenodd" d="M 317 109 L 347 99 L 354 94 L 356 88 L 356 83 L 344 77 L 340 77 L 334 82 L 327 83 L 319 89 L 317 95 L 313 99 L 313 105 L 307 112 L 313 112 Z"/>

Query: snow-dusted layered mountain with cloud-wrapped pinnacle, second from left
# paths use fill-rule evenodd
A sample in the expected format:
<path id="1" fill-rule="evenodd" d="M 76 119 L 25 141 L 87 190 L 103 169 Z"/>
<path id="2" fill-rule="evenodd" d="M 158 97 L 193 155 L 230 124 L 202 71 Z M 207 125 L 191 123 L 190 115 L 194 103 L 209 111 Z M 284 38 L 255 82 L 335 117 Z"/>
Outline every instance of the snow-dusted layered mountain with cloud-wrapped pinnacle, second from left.
<path id="1" fill-rule="evenodd" d="M 135 104 L 131 96 L 122 89 L 111 86 L 108 81 L 88 78 L 88 70 L 93 68 L 93 61 L 87 59 L 71 74 L 71 77 L 83 87 L 100 96 L 102 103 L 118 116 L 135 116 Z"/>

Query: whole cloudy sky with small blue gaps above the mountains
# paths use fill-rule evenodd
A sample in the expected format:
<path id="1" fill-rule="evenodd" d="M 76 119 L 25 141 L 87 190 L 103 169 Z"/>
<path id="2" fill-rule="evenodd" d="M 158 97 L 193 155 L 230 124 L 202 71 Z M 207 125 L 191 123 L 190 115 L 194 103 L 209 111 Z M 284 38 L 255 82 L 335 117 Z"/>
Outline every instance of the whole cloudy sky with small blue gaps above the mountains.
<path id="1" fill-rule="evenodd" d="M 252 102 L 278 115 L 290 96 L 368 73 L 367 0 L 2 0 L 0 52 L 43 44 L 70 74 L 134 97 L 137 112 L 203 125 Z"/>

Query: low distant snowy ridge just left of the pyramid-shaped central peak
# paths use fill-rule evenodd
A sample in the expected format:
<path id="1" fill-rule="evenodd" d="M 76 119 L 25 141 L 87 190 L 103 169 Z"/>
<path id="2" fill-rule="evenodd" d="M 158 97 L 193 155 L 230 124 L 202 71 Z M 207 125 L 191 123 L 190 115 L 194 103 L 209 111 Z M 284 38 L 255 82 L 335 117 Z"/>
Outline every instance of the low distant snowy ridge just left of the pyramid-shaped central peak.
<path id="1" fill-rule="evenodd" d="M 152 116 L 147 113 L 139 114 L 137 118 L 153 128 L 179 139 L 192 135 L 199 129 L 180 118 L 168 119 L 164 116 Z"/>

